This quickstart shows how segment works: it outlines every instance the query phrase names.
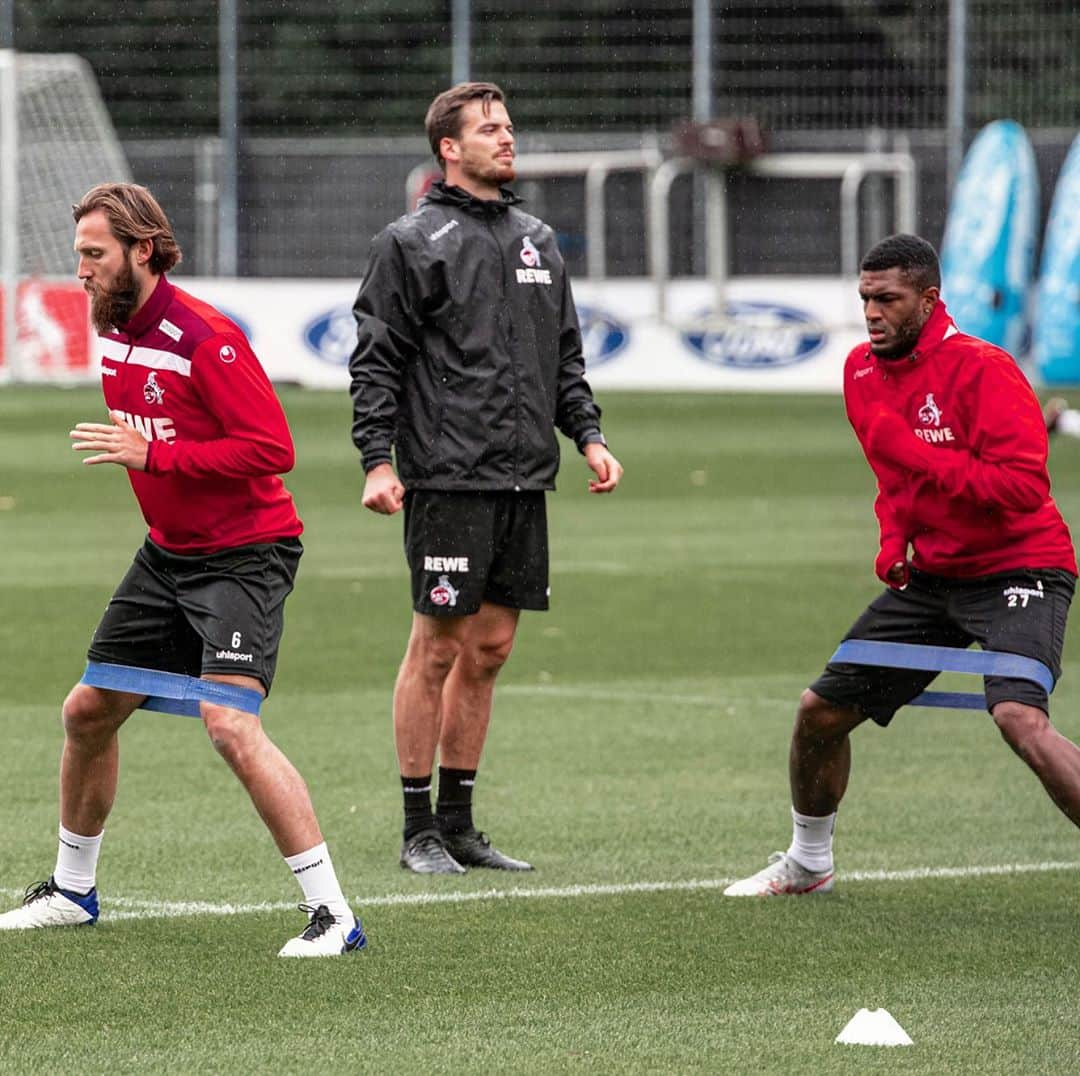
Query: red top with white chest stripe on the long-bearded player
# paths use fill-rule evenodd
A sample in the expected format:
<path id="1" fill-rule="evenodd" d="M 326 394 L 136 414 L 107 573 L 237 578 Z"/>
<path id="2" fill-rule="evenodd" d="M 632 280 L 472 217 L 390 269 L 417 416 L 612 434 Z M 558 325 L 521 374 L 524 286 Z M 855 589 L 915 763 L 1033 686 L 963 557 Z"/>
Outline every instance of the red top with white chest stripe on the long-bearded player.
<path id="1" fill-rule="evenodd" d="M 285 413 L 233 322 L 161 277 L 98 340 L 105 402 L 149 442 L 127 475 L 152 541 L 211 553 L 303 530 L 278 476 L 294 461 Z"/>

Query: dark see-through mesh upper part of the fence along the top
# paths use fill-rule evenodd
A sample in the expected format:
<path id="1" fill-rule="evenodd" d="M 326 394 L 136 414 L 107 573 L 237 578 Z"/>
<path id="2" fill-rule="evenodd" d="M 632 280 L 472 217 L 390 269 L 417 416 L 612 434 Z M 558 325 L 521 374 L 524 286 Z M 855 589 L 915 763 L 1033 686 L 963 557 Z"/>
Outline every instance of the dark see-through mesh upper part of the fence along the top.
<path id="1" fill-rule="evenodd" d="M 217 133 L 230 11 L 253 135 L 411 134 L 462 56 L 505 83 L 527 129 L 666 130 L 691 112 L 703 10 L 715 112 L 754 113 L 771 131 L 944 126 L 950 13 L 969 127 L 1080 115 L 1074 0 L 9 2 L 15 46 L 84 55 L 127 137 Z"/>

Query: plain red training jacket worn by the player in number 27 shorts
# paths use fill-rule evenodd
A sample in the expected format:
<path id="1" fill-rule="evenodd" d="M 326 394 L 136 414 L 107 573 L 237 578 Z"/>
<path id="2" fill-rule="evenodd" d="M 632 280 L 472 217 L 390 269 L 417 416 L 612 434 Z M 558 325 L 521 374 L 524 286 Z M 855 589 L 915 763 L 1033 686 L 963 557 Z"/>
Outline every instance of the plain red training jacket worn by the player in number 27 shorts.
<path id="1" fill-rule="evenodd" d="M 943 302 L 906 359 L 854 348 L 843 399 L 878 481 L 879 574 L 908 543 L 912 564 L 941 576 L 1076 574 L 1035 392 L 1007 351 L 961 333 Z"/>

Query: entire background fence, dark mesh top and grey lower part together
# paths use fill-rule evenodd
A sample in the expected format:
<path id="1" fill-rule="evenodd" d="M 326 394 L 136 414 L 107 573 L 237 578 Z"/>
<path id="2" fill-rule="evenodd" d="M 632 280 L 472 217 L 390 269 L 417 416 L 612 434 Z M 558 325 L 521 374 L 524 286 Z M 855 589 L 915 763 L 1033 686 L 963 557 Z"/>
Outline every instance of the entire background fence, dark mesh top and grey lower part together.
<path id="1" fill-rule="evenodd" d="M 704 44 L 710 111 L 754 115 L 771 149 L 909 148 L 919 224 L 933 239 L 958 124 L 969 135 L 1005 116 L 1025 124 L 1045 206 L 1080 117 L 1074 0 L 13 2 L 18 49 L 90 60 L 136 178 L 175 218 L 187 270 L 203 273 L 232 263 L 217 212 L 233 175 L 221 154 L 231 143 L 218 139 L 230 13 L 242 134 L 235 265 L 248 275 L 359 275 L 372 234 L 404 210 L 405 177 L 428 157 L 427 105 L 463 66 L 503 84 L 523 151 L 665 147 L 673 122 L 698 110 Z M 735 174 L 728 186 L 733 272 L 837 269 L 835 183 Z M 558 178 L 519 190 L 576 272 L 582 187 Z M 690 177 L 673 191 L 677 273 L 704 269 L 701 193 Z M 888 180 L 867 183 L 868 238 L 889 228 L 891 197 Z M 644 272 L 640 177 L 612 177 L 607 205 L 609 271 Z"/>

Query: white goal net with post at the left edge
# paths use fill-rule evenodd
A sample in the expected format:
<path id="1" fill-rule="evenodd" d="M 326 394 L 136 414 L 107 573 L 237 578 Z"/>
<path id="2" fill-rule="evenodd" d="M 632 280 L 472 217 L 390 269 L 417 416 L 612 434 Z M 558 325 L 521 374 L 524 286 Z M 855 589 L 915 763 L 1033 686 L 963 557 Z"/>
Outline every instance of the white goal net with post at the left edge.
<path id="1" fill-rule="evenodd" d="M 130 178 L 82 57 L 0 50 L 0 380 L 92 375 L 71 205 Z"/>

